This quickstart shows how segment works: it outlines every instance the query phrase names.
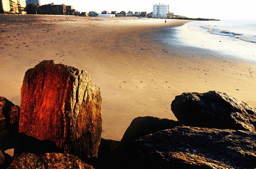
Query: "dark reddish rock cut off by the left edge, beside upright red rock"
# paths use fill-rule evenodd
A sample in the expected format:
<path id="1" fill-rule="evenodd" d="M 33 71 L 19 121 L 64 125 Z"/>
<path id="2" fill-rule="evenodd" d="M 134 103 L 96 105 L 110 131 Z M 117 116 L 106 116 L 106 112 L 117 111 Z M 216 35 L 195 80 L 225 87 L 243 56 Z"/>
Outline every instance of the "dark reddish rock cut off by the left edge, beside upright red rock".
<path id="1" fill-rule="evenodd" d="M 19 133 L 20 107 L 0 97 L 0 149 L 14 148 Z"/>

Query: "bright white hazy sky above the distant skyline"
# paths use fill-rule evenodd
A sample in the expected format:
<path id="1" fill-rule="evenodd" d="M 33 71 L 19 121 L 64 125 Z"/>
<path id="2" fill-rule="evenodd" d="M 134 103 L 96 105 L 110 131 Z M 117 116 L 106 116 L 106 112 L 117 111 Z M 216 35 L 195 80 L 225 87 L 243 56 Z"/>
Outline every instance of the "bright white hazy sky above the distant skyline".
<path id="1" fill-rule="evenodd" d="M 154 4 L 169 5 L 170 12 L 186 17 L 256 19 L 256 0 L 41 0 L 41 4 L 72 5 L 78 11 L 153 11 Z"/>

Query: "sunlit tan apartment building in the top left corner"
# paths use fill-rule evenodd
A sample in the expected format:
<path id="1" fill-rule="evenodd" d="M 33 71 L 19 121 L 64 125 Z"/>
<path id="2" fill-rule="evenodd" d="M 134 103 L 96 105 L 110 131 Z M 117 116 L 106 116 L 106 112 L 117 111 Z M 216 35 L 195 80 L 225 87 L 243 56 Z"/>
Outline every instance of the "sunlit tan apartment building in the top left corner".
<path id="1" fill-rule="evenodd" d="M 0 13 L 26 14 L 25 0 L 0 0 Z"/>

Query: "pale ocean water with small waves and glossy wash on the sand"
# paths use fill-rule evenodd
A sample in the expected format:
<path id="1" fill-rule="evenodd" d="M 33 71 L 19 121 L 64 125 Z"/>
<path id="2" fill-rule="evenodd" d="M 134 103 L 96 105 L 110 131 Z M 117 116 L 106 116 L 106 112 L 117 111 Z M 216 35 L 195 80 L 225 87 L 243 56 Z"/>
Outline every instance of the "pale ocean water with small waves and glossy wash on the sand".
<path id="1" fill-rule="evenodd" d="M 204 48 L 225 58 L 256 63 L 256 20 L 195 21 L 166 28 L 170 45 Z"/>

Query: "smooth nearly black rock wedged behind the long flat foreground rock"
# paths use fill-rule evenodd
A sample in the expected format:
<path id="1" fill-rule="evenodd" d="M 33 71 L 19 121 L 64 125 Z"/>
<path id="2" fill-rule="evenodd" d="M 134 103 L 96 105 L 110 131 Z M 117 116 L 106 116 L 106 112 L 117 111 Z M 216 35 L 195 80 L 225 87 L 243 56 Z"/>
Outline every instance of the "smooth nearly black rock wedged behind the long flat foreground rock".
<path id="1" fill-rule="evenodd" d="M 139 137 L 153 134 L 160 130 L 172 129 L 176 126 L 183 126 L 179 121 L 169 120 L 167 118 L 157 118 L 151 116 L 137 117 L 131 121 L 130 126 L 125 131 L 121 142 L 133 141 Z"/>

